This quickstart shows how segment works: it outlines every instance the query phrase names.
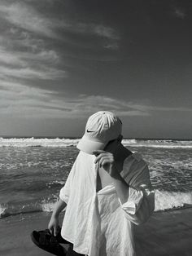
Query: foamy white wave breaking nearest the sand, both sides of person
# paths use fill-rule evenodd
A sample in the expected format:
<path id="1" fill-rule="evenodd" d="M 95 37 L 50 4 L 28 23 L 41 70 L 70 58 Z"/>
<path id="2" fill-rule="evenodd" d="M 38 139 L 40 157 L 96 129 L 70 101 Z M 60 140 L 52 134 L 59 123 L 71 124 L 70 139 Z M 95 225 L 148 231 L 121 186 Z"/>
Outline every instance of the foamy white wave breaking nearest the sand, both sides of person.
<path id="1" fill-rule="evenodd" d="M 55 208 L 55 202 L 44 199 L 40 204 L 31 205 L 30 208 L 24 205 L 8 207 L 7 205 L 0 205 L 0 218 L 15 216 L 19 214 L 33 214 L 46 212 L 51 213 Z M 167 210 L 179 210 L 192 207 L 192 193 L 191 192 L 167 192 L 155 189 L 155 212 Z"/>

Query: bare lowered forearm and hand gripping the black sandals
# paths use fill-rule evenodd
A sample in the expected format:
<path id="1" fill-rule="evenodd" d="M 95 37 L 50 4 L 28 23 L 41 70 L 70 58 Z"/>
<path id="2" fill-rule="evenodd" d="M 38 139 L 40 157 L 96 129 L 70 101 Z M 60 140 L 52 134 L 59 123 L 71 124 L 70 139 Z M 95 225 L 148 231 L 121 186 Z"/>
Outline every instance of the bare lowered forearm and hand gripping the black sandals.
<path id="1" fill-rule="evenodd" d="M 59 214 L 66 206 L 66 202 L 62 201 L 60 198 L 55 204 L 55 209 L 51 215 L 50 223 L 48 224 L 48 229 L 54 236 L 56 236 L 59 231 Z"/>

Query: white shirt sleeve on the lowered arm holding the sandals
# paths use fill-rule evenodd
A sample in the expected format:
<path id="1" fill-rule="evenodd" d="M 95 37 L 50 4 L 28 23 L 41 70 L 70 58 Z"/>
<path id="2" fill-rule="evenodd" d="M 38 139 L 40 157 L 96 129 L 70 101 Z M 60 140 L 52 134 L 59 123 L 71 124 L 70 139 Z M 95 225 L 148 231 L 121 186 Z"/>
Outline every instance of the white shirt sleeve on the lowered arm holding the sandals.
<path id="1" fill-rule="evenodd" d="M 77 157 L 76 157 L 76 161 L 77 161 Z M 72 166 L 72 170 L 70 170 L 70 173 L 68 174 L 68 179 L 66 180 L 66 183 L 64 184 L 63 188 L 60 189 L 60 192 L 59 192 L 59 198 L 62 201 L 66 202 L 66 204 L 68 204 L 70 190 L 72 188 L 72 180 L 74 179 L 75 172 L 76 172 L 76 161 Z"/>

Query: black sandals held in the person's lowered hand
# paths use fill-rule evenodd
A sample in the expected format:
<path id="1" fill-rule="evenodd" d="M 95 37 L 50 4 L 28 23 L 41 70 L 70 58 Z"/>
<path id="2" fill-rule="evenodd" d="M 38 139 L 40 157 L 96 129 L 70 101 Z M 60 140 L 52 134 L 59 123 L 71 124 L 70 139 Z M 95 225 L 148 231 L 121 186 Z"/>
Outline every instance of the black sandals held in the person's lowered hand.
<path id="1" fill-rule="evenodd" d="M 50 254 L 64 256 L 67 253 L 66 249 L 64 249 L 63 246 L 59 245 L 57 236 L 53 236 L 50 233 L 49 229 L 38 232 L 33 231 L 31 233 L 31 238 L 35 245 L 37 245 L 41 249 L 46 250 Z M 63 238 L 59 235 L 58 239 L 62 241 Z"/>

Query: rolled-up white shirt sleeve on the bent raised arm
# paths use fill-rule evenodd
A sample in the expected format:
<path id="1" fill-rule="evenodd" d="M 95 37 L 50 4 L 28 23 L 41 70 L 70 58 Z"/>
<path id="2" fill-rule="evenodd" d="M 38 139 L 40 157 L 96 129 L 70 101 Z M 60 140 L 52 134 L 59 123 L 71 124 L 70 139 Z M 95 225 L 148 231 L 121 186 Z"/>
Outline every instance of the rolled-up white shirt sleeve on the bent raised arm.
<path id="1" fill-rule="evenodd" d="M 120 206 L 131 222 L 136 225 L 145 223 L 155 208 L 155 193 L 151 186 L 150 174 L 146 162 L 136 159 L 133 162 L 131 179 L 125 179 L 129 184 L 129 198 Z M 129 175 L 130 177 L 130 175 Z M 120 201 L 120 199 L 119 199 Z"/>

